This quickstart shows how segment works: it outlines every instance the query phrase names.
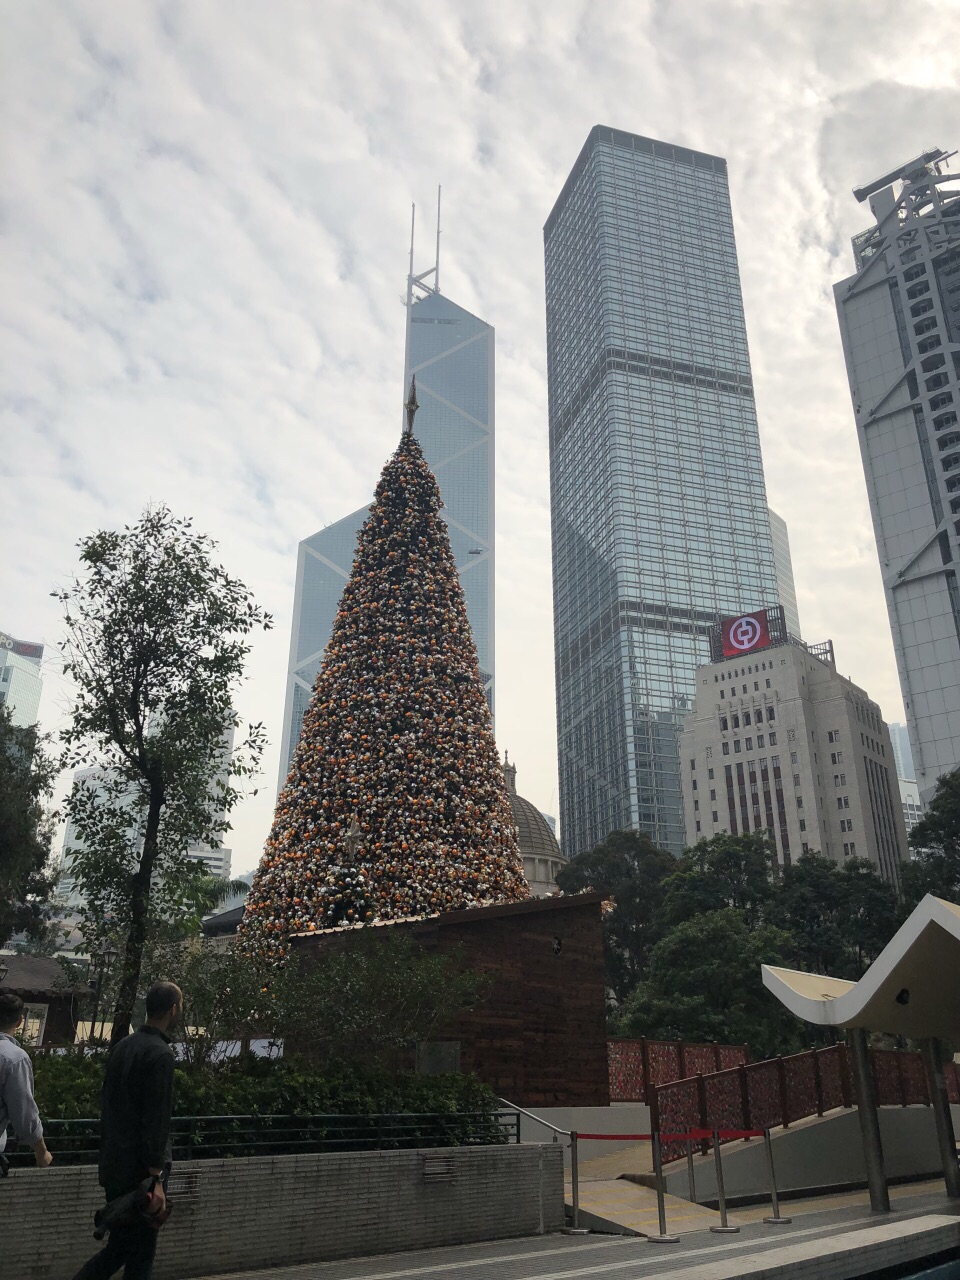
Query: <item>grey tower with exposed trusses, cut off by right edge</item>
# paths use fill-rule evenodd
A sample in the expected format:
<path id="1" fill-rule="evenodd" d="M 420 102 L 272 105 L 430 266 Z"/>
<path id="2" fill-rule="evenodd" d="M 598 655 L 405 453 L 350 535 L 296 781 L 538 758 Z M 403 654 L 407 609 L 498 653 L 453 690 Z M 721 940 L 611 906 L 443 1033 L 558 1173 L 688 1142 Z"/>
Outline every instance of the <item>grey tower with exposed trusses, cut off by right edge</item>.
<path id="1" fill-rule="evenodd" d="M 927 151 L 867 187 L 835 285 L 920 797 L 960 764 L 960 177 Z"/>

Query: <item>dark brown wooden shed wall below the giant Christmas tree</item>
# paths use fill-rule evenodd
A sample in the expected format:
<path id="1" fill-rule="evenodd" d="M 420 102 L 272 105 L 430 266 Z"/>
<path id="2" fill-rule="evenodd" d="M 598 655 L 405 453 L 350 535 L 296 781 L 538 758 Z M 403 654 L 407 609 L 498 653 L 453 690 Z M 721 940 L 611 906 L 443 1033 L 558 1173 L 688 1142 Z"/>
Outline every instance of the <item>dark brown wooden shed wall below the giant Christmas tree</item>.
<path id="1" fill-rule="evenodd" d="M 436 1039 L 460 1044 L 460 1066 L 517 1106 L 609 1105 L 603 924 L 599 893 L 530 899 L 398 922 L 428 950 L 458 952 L 493 979 L 489 997 Z M 296 937 L 301 963 L 349 946 L 353 931 Z"/>

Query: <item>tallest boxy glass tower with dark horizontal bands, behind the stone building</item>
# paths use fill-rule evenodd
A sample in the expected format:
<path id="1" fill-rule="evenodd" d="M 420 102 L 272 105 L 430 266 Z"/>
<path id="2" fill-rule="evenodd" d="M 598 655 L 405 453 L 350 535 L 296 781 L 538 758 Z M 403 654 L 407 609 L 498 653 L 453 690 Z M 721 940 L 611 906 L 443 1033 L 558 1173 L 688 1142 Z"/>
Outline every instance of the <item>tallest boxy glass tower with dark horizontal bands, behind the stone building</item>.
<path id="1" fill-rule="evenodd" d="M 710 625 L 778 599 L 726 161 L 598 125 L 544 247 L 561 842 L 678 854 Z"/>

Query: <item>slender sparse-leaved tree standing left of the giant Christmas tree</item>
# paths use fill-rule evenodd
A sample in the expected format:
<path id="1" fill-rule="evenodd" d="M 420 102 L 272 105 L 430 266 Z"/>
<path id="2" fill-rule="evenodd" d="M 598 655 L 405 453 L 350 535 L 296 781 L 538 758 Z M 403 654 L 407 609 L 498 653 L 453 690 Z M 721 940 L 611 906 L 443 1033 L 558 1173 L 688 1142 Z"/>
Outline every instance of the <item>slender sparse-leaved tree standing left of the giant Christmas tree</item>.
<path id="1" fill-rule="evenodd" d="M 73 872 L 88 941 L 123 937 L 114 1042 L 129 1030 L 152 920 L 180 911 L 202 874 L 188 846 L 219 845 L 264 749 L 253 724 L 224 753 L 248 636 L 270 617 L 215 563 L 215 547 L 189 520 L 147 508 L 122 532 L 84 538 L 83 577 L 54 593 L 76 686 L 61 764 L 97 769 L 67 803 L 82 841 Z"/>

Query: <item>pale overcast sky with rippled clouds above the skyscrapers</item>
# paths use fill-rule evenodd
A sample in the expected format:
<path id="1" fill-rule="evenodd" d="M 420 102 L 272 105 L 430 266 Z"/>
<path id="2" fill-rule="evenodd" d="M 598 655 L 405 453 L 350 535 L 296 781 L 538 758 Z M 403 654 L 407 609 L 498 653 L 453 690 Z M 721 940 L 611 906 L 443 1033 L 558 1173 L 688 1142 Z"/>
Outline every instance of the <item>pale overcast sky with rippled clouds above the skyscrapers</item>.
<path id="1" fill-rule="evenodd" d="M 960 146 L 956 0 L 0 0 L 0 630 L 49 645 L 76 541 L 165 500 L 275 617 L 238 698 L 276 782 L 297 543 L 399 429 L 410 205 L 497 328 L 497 737 L 557 813 L 543 221 L 591 125 L 727 157 L 800 620 L 902 718 L 832 284 L 850 195 Z M 956 161 L 954 161 L 956 164 Z M 429 234 L 419 269 L 430 265 Z"/>

